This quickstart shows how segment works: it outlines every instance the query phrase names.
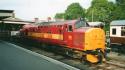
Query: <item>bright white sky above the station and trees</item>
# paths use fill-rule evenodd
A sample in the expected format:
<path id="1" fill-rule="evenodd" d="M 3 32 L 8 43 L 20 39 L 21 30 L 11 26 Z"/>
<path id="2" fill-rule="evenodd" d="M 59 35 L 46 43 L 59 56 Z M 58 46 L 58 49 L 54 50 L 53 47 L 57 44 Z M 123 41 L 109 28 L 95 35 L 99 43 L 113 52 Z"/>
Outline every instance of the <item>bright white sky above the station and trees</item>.
<path id="1" fill-rule="evenodd" d="M 46 20 L 56 13 L 63 13 L 71 3 L 78 2 L 87 9 L 92 0 L 0 0 L 0 9 L 14 10 L 16 17 L 33 20 Z"/>

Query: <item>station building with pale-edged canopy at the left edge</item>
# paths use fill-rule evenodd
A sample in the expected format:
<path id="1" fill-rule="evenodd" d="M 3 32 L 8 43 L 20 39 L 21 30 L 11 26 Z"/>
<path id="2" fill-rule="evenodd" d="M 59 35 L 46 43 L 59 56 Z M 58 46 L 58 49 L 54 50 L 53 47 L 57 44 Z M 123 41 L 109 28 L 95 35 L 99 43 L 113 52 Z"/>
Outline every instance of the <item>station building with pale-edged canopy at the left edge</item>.
<path id="1" fill-rule="evenodd" d="M 23 25 L 32 23 L 34 22 L 16 18 L 14 10 L 0 10 L 0 37 L 15 35 Z"/>

